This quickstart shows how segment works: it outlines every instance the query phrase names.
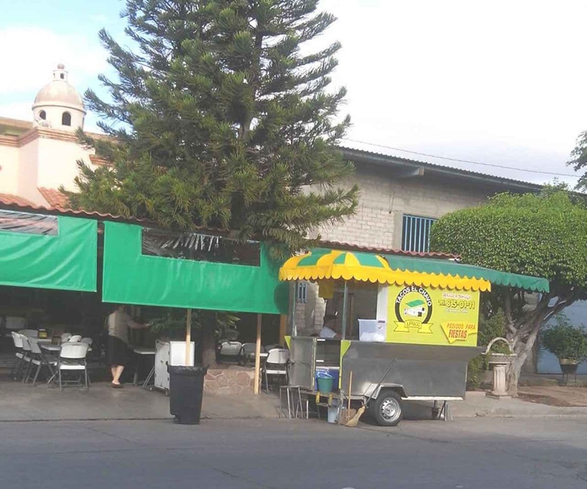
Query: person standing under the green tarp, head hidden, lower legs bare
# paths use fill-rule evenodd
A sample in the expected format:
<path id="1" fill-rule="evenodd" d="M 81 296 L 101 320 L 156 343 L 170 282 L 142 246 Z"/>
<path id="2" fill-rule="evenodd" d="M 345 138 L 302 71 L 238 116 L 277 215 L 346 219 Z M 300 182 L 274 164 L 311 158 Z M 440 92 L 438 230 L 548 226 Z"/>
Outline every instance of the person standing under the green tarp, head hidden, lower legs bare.
<path id="1" fill-rule="evenodd" d="M 116 309 L 106 319 L 108 327 L 108 342 L 106 345 L 106 363 L 110 365 L 112 373 L 112 387 L 120 389 L 120 376 L 124 372 L 129 358 L 129 329 L 147 328 L 146 324 L 139 324 L 124 311 L 124 306 Z"/>

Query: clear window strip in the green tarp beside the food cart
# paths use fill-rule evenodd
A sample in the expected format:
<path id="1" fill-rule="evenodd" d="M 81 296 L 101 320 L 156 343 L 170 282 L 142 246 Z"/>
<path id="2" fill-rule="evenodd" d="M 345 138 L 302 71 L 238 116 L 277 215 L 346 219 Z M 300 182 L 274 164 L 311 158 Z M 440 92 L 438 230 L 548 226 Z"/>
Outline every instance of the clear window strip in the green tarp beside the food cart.
<path id="1" fill-rule="evenodd" d="M 156 257 L 261 266 L 261 244 L 197 232 L 143 228 L 142 253 Z"/>

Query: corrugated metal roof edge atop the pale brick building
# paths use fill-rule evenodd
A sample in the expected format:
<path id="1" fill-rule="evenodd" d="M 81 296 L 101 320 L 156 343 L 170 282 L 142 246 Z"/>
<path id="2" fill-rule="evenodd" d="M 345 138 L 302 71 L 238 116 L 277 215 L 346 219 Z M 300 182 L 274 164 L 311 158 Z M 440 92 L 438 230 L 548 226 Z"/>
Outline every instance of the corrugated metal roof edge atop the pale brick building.
<path id="1" fill-rule="evenodd" d="M 356 158 L 363 160 L 372 160 L 372 163 L 379 164 L 396 164 L 407 167 L 422 167 L 425 170 L 431 170 L 438 173 L 452 174 L 461 178 L 468 178 L 471 180 L 484 180 L 487 183 L 497 184 L 506 187 L 504 190 L 512 190 L 513 188 L 525 191 L 540 191 L 544 186 L 536 183 L 531 183 L 523 180 L 515 180 L 514 178 L 498 177 L 490 175 L 488 173 L 481 173 L 472 170 L 461 170 L 460 168 L 454 168 L 450 166 L 444 166 L 436 163 L 429 163 L 428 161 L 412 160 L 410 158 L 404 158 L 401 156 L 395 156 L 393 154 L 376 153 L 375 151 L 367 151 L 363 149 L 356 149 L 346 146 L 340 146 L 339 149 L 345 154 L 350 160 Z M 379 161 L 376 161 L 379 160 Z"/>

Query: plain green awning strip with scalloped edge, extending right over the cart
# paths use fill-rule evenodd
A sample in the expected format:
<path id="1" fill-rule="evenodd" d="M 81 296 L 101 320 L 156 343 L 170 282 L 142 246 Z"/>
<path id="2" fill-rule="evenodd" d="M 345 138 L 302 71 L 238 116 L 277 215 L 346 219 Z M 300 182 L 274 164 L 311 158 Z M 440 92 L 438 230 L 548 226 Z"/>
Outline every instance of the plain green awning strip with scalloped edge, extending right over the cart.
<path id="1" fill-rule="evenodd" d="M 424 272 L 427 274 L 444 274 L 467 278 L 485 279 L 493 285 L 504 285 L 532 292 L 548 292 L 549 284 L 545 278 L 529 275 L 510 274 L 491 268 L 465 265 L 456 261 L 432 258 L 402 257 L 400 255 L 384 255 L 392 269 Z"/>

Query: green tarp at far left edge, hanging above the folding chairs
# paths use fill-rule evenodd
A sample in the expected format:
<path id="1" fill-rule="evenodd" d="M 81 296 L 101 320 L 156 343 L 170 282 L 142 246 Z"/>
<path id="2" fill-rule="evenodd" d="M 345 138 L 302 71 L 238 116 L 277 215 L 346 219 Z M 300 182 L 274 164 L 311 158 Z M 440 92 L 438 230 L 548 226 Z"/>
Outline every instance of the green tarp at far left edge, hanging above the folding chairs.
<path id="1" fill-rule="evenodd" d="M 0 285 L 96 292 L 96 221 L 57 221 L 55 235 L 0 229 Z"/>

